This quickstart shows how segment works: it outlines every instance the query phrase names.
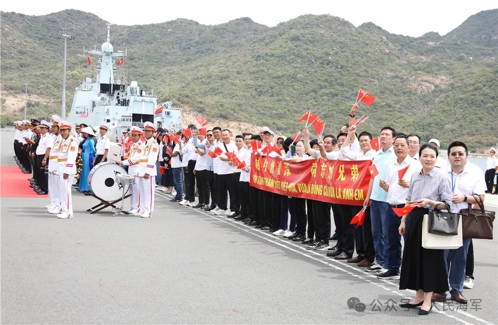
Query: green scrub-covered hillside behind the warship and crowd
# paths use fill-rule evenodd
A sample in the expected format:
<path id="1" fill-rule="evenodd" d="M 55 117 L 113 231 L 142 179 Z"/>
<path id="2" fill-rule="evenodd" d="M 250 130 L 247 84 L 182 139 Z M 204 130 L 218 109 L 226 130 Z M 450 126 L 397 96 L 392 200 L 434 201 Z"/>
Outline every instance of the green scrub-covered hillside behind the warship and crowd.
<path id="1" fill-rule="evenodd" d="M 472 148 L 496 144 L 498 9 L 469 17 L 441 36 L 390 34 L 373 23 L 358 28 L 330 15 L 303 15 L 275 27 L 239 18 L 216 26 L 187 19 L 112 26 L 111 43 L 124 50 L 132 80 L 154 89 L 158 102 L 188 105 L 206 118 L 268 125 L 294 134 L 306 110 L 336 133 L 359 88 L 376 97 L 362 105 L 378 132 L 393 125 L 443 144 L 455 139 Z M 1 87 L 29 90 L 56 104 L 31 105 L 33 116 L 60 112 L 63 31 L 68 47 L 68 109 L 73 89 L 94 78 L 84 48 L 99 48 L 107 25 L 78 10 L 45 16 L 1 12 Z M 490 132 L 491 131 L 491 132 Z M 444 147 L 444 146 L 443 146 Z"/>

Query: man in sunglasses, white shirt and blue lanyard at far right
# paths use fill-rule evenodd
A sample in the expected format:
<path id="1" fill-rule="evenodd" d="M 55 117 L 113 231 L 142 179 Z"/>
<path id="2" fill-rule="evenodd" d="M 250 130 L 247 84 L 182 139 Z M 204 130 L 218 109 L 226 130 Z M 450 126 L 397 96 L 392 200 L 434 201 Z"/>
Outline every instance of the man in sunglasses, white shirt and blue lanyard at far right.
<path id="1" fill-rule="evenodd" d="M 460 141 L 452 142 L 448 146 L 448 157 L 451 168 L 446 172 L 446 175 L 450 180 L 453 191 L 451 211 L 460 212 L 462 209 L 468 209 L 470 204 L 478 203 L 478 199 L 476 199 L 478 196 L 484 202 L 486 192 L 484 174 L 480 168 L 467 161 L 467 146 Z M 460 304 L 467 304 L 467 299 L 465 299 L 462 293 L 465 281 L 467 252 L 471 242 L 471 238 L 464 238 L 463 245 L 460 248 L 444 250 L 444 261 L 451 287 L 451 300 Z M 446 293 L 435 292 L 432 297 L 433 301 L 443 300 L 446 299 Z"/>

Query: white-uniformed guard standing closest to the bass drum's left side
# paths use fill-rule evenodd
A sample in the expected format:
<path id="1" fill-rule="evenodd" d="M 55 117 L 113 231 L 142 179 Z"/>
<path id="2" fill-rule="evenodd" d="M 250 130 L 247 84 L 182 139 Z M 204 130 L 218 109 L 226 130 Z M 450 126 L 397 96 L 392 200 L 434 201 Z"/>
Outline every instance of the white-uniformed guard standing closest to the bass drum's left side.
<path id="1" fill-rule="evenodd" d="M 76 157 L 78 156 L 78 143 L 71 135 L 73 126 L 63 121 L 60 124 L 60 133 L 63 139 L 61 151 L 57 162 L 59 163 L 57 173 L 59 174 L 59 194 L 61 198 L 61 213 L 57 218 L 67 219 L 73 217 L 73 202 L 71 197 L 71 185 L 76 174 Z"/>

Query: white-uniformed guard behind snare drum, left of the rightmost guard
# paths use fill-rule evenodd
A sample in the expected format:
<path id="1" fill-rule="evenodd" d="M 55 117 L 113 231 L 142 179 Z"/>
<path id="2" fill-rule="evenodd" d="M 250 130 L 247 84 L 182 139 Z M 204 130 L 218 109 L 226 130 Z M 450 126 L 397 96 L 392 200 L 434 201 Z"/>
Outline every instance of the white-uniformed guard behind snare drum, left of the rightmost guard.
<path id="1" fill-rule="evenodd" d="M 138 175 L 138 170 L 140 168 L 140 160 L 143 157 L 143 143 L 140 140 L 142 135 L 142 130 L 138 127 L 131 127 L 130 137 L 133 142 L 131 145 L 131 151 L 129 153 L 129 158 L 123 160 L 121 163 L 128 166 L 128 175 L 136 176 Z M 140 191 L 139 191 L 139 178 L 136 179 L 135 183 L 129 186 L 130 196 L 130 208 L 129 213 L 138 213 L 140 209 Z"/>

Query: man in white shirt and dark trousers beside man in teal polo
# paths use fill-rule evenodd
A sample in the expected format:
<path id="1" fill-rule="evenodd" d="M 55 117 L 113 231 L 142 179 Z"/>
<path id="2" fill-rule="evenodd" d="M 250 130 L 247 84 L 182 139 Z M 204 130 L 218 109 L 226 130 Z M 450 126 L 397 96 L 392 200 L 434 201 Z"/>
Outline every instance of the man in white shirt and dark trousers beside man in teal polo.
<path id="1" fill-rule="evenodd" d="M 399 225 L 401 218 L 398 217 L 392 208 L 404 208 L 406 195 L 410 187 L 411 175 L 419 171 L 422 165 L 408 155 L 408 138 L 404 135 L 394 139 L 394 154 L 396 160 L 387 167 L 385 179 L 379 180 L 379 186 L 387 192 L 386 202 L 389 204 L 385 212 L 385 223 L 387 227 L 387 238 L 385 240 L 383 265 L 387 271 L 377 275 L 379 279 L 398 280 L 399 269 L 401 268 L 401 236 L 399 235 Z M 405 168 L 406 172 L 399 177 L 399 170 Z"/>

